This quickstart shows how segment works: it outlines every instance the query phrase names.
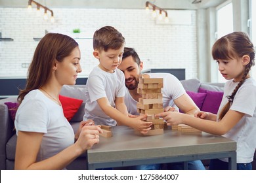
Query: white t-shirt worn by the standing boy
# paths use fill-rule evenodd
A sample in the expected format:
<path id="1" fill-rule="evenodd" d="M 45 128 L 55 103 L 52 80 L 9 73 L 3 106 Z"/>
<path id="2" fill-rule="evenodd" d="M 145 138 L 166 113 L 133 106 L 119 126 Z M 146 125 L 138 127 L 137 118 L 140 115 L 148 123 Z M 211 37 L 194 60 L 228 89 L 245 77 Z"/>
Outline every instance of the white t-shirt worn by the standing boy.
<path id="1" fill-rule="evenodd" d="M 125 96 L 125 76 L 116 69 L 114 73 L 103 71 L 98 66 L 91 71 L 85 88 L 85 115 L 83 120 L 92 119 L 96 125 L 117 124 L 116 120 L 107 116 L 100 108 L 97 100 L 106 97 L 110 105 L 116 108 L 116 97 Z"/>

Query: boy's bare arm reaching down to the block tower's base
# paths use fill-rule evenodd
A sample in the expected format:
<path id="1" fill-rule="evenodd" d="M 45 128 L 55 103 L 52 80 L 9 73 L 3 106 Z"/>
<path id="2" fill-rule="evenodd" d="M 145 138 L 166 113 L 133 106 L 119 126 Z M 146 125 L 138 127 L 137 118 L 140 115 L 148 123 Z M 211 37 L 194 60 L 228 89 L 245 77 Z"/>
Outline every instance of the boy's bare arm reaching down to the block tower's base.
<path id="1" fill-rule="evenodd" d="M 112 107 L 106 97 L 98 99 L 97 102 L 103 112 L 110 116 L 110 118 L 116 120 L 118 125 L 127 125 L 141 133 L 147 133 L 148 130 L 151 129 L 150 125 L 152 125 L 152 122 L 142 121 L 143 118 L 146 118 L 146 115 L 137 118 L 129 118 L 126 114 Z"/>

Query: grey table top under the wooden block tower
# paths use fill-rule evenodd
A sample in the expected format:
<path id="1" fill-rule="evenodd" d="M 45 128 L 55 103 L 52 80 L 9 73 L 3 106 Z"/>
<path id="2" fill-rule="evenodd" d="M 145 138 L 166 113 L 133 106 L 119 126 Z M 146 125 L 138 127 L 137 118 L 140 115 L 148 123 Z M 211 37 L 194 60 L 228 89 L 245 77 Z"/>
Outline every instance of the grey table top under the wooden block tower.
<path id="1" fill-rule="evenodd" d="M 236 151 L 236 142 L 209 133 L 165 129 L 163 135 L 143 136 L 126 126 L 112 127 L 113 137 L 100 137 L 88 150 L 88 162 L 187 156 Z"/>

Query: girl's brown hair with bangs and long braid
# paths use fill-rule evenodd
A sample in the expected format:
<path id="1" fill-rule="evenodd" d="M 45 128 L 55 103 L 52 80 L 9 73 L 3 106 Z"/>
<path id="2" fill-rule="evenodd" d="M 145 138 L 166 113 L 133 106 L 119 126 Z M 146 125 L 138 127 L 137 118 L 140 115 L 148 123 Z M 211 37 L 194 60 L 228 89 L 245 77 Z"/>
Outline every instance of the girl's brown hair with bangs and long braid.
<path id="1" fill-rule="evenodd" d="M 255 50 L 253 48 L 253 43 L 250 41 L 248 35 L 243 32 L 233 32 L 224 37 L 221 37 L 219 40 L 213 44 L 212 56 L 213 59 L 234 59 L 234 58 L 242 58 L 243 56 L 249 56 L 250 61 L 245 66 L 244 75 L 242 80 L 238 83 L 238 86 L 234 89 L 231 95 L 228 96 L 228 103 L 224 105 L 221 113 L 219 115 L 219 120 L 221 120 L 226 112 L 228 112 L 230 105 L 238 92 L 238 89 L 244 83 L 251 67 L 255 65 Z"/>

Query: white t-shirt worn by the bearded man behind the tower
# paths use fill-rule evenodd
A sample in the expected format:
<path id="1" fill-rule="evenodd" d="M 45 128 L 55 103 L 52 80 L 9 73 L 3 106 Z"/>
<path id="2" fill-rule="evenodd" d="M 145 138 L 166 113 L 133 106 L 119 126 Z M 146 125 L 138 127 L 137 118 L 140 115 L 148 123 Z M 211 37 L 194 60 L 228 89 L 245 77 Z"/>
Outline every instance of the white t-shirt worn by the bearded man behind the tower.
<path id="1" fill-rule="evenodd" d="M 150 75 L 150 78 L 163 78 L 163 88 L 161 89 L 161 93 L 163 93 L 163 107 L 171 106 L 177 108 L 173 100 L 181 97 L 186 92 L 181 82 L 169 73 L 147 74 Z M 129 114 L 139 115 L 137 112 L 137 101 L 133 99 L 127 88 L 125 92 L 125 105 Z"/>

